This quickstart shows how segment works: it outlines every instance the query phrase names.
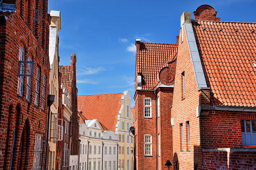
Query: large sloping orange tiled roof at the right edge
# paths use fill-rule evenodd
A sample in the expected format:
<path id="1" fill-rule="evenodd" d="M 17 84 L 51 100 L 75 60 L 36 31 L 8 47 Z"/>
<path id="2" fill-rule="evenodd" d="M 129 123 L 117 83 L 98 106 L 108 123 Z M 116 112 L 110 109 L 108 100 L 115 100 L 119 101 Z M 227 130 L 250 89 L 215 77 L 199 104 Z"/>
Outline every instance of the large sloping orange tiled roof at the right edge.
<path id="1" fill-rule="evenodd" d="M 256 104 L 256 23 L 192 21 L 214 105 Z"/>

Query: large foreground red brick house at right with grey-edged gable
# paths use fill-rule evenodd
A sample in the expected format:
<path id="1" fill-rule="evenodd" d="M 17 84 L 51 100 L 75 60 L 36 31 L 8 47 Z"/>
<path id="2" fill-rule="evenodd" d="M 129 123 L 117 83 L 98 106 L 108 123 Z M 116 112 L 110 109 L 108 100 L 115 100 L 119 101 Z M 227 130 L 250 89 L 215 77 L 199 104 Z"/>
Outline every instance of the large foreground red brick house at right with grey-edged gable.
<path id="1" fill-rule="evenodd" d="M 174 169 L 256 168 L 256 24 L 221 22 L 216 13 L 202 5 L 194 20 L 181 17 Z"/>

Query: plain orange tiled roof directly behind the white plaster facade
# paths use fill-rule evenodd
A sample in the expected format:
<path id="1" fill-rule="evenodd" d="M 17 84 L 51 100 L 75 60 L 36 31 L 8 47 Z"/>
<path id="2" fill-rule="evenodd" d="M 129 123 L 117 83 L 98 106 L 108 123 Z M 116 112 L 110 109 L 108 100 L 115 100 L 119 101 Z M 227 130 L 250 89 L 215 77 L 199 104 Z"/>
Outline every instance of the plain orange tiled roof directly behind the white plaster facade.
<path id="1" fill-rule="evenodd" d="M 121 95 L 123 93 L 78 95 L 77 109 L 82 111 L 82 115 L 87 119 L 97 119 L 102 123 L 103 128 L 105 126 L 109 130 L 116 131 Z"/>

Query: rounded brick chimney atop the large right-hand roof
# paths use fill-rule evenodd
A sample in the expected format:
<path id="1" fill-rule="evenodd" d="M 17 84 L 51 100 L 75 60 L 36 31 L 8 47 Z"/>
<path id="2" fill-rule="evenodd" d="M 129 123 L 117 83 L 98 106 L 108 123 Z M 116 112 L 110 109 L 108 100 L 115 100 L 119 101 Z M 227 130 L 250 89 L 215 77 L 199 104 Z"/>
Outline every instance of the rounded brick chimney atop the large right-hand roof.
<path id="1" fill-rule="evenodd" d="M 220 18 L 216 18 L 217 12 L 209 5 L 199 6 L 193 14 L 195 20 L 220 21 Z"/>

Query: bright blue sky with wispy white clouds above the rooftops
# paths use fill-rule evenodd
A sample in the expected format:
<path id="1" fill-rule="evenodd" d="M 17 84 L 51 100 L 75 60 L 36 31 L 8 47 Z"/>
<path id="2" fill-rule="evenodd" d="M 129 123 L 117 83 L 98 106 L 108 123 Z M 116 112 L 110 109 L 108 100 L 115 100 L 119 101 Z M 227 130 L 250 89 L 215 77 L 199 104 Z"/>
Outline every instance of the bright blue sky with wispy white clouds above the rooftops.
<path id="1" fill-rule="evenodd" d="M 151 1 L 49 0 L 48 12 L 60 11 L 60 65 L 75 53 L 78 95 L 134 95 L 135 39 L 175 44 L 180 17 L 208 4 L 220 21 L 256 22 L 254 0 Z M 134 102 L 132 102 L 134 107 Z"/>

